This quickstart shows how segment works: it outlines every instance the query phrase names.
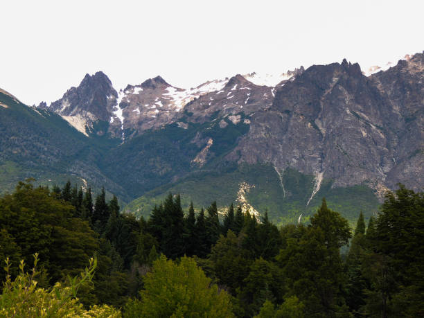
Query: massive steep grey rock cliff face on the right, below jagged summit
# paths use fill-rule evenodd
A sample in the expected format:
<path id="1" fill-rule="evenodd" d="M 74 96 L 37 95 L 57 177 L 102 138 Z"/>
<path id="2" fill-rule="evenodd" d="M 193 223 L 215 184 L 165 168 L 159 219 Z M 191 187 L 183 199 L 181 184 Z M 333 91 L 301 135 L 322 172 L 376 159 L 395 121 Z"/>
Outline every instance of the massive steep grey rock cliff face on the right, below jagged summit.
<path id="1" fill-rule="evenodd" d="M 228 158 L 268 162 L 376 191 L 423 186 L 423 54 L 367 78 L 358 64 L 313 66 L 276 89 Z"/>

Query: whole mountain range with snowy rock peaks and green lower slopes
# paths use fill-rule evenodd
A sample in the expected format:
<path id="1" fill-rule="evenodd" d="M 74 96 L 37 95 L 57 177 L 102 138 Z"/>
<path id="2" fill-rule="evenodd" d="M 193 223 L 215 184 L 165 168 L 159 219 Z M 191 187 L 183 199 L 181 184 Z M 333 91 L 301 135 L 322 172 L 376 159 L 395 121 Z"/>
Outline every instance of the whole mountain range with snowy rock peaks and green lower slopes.
<path id="1" fill-rule="evenodd" d="M 306 222 L 321 197 L 355 220 L 400 182 L 424 186 L 424 53 L 256 73 L 181 89 L 157 76 L 117 91 L 99 71 L 37 107 L 0 90 L 0 191 L 67 179 L 148 215 L 169 192 Z M 272 84 L 270 84 L 272 83 Z M 300 218 L 301 217 L 301 218 Z"/>

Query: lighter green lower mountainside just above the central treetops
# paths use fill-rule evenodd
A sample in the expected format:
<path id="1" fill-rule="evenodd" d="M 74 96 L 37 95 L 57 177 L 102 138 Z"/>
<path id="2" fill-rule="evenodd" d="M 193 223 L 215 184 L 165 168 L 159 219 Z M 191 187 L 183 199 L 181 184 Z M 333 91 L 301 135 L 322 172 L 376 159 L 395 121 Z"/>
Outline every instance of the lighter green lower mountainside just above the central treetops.
<path id="1" fill-rule="evenodd" d="M 270 219 L 276 224 L 297 222 L 301 213 L 302 222 L 308 222 L 310 215 L 321 205 L 322 197 L 326 197 L 330 209 L 342 213 L 352 225 L 360 211 L 369 218 L 369 215 L 378 211 L 380 205 L 373 191 L 366 186 L 332 189 L 330 180 L 325 179 L 320 191 L 306 206 L 313 190 L 314 178 L 288 169 L 283 172 L 282 179 L 285 195 L 279 175 L 272 166 L 242 165 L 227 173 L 203 173 L 176 184 L 161 186 L 130 202 L 125 206 L 125 211 L 147 218 L 154 204 L 160 204 L 168 193 L 179 193 L 185 210 L 191 200 L 197 210 L 209 206 L 214 200 L 220 208 L 224 208 L 236 202 L 242 183 L 251 186 L 245 193 L 249 204 L 260 213 L 267 209 Z"/>

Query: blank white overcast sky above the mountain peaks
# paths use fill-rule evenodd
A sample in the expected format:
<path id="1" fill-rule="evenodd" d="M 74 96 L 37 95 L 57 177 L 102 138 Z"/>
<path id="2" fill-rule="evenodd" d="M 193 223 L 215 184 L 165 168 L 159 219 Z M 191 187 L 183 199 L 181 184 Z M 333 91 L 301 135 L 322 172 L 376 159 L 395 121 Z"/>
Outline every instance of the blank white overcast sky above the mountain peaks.
<path id="1" fill-rule="evenodd" d="M 157 75 L 189 88 L 424 50 L 423 0 L 1 0 L 0 10 L 0 88 L 28 105 L 100 70 L 116 89 Z"/>

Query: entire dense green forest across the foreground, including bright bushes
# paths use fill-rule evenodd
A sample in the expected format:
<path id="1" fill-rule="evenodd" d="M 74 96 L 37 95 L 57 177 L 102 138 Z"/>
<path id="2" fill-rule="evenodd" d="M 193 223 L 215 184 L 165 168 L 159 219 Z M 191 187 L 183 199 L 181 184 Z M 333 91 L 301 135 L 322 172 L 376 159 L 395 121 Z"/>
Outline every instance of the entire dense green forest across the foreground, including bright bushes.
<path id="1" fill-rule="evenodd" d="M 0 317 L 422 317 L 424 193 L 357 213 L 352 231 L 323 199 L 276 227 L 170 194 L 136 220 L 104 190 L 19 182 L 0 197 Z"/>

